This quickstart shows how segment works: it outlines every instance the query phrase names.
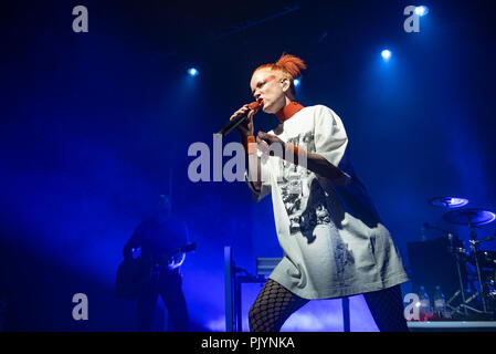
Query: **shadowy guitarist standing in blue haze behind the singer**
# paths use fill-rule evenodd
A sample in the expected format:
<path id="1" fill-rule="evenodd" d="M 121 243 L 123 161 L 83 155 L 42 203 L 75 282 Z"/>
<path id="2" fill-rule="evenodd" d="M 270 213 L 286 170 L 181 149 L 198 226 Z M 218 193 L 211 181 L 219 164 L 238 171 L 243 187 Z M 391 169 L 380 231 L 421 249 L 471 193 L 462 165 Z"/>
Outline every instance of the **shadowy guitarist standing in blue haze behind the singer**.
<path id="1" fill-rule="evenodd" d="M 186 223 L 172 215 L 170 200 L 160 195 L 156 215 L 137 227 L 123 250 L 125 258 L 140 261 L 145 269 L 137 296 L 138 331 L 151 331 L 158 295 L 167 306 L 173 330 L 188 331 L 188 311 L 180 272 L 184 253 L 170 257 L 172 251 L 187 243 Z"/>

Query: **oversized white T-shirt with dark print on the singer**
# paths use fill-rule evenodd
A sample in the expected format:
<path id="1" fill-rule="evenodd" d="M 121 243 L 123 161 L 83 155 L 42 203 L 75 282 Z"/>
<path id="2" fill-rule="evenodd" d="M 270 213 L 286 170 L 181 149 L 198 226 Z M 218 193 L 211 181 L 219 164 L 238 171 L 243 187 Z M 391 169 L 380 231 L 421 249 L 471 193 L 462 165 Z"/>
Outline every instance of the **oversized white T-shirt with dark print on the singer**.
<path id="1" fill-rule="evenodd" d="M 263 154 L 256 201 L 272 192 L 277 239 L 284 251 L 270 278 L 304 299 L 377 291 L 408 281 L 401 257 L 368 192 L 353 173 L 348 137 L 324 105 L 304 107 L 268 132 L 337 166 L 347 185 Z"/>

